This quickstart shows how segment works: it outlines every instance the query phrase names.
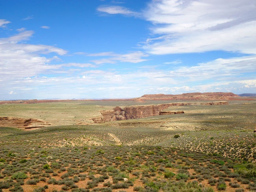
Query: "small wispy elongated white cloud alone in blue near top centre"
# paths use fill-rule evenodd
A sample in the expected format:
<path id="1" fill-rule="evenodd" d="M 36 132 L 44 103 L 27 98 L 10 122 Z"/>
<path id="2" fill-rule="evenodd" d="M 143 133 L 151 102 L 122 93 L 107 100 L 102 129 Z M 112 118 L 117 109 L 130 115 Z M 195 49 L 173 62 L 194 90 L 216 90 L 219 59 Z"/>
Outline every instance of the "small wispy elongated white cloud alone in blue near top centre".
<path id="1" fill-rule="evenodd" d="M 100 6 L 97 8 L 97 11 L 104 12 L 108 14 L 121 14 L 121 15 L 128 15 L 128 16 L 135 16 L 139 17 L 141 14 L 135 11 L 130 11 L 127 8 L 122 6 Z"/>

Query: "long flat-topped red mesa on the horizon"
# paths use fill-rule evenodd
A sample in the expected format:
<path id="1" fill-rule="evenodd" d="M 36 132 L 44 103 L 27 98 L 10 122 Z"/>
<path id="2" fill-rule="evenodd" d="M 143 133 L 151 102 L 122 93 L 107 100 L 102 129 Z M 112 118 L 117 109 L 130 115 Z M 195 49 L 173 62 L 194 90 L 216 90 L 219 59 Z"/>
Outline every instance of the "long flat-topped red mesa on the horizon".
<path id="1" fill-rule="evenodd" d="M 229 100 L 230 98 L 240 97 L 231 92 L 209 92 L 209 93 L 183 93 L 180 95 L 165 95 L 165 94 L 149 94 L 143 95 L 134 100 Z"/>

